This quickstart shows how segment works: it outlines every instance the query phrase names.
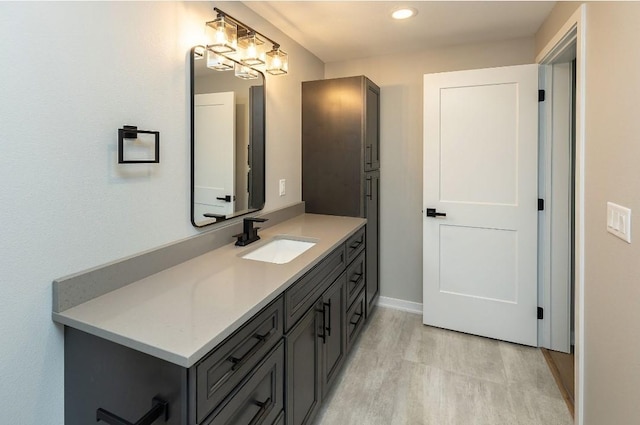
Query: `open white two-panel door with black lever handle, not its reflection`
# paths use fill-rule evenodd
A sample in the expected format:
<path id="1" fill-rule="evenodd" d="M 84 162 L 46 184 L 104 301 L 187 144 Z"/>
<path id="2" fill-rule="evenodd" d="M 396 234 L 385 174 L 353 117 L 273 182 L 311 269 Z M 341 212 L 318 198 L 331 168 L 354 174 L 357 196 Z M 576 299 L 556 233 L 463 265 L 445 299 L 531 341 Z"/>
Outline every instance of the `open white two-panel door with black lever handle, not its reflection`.
<path id="1" fill-rule="evenodd" d="M 424 76 L 425 324 L 537 345 L 537 161 L 537 65 Z"/>

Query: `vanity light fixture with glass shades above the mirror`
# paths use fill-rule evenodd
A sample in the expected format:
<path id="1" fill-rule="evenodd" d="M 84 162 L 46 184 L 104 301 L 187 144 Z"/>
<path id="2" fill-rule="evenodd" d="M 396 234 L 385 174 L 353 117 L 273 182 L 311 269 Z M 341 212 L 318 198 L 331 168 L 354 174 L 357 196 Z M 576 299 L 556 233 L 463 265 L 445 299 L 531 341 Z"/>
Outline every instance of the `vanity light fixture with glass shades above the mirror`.
<path id="1" fill-rule="evenodd" d="M 209 40 L 206 49 L 211 51 L 212 55 L 217 53 L 219 58 L 216 59 L 207 52 L 209 68 L 218 71 L 235 69 L 235 75 L 242 79 L 258 78 L 260 70 L 272 75 L 284 75 L 289 72 L 289 55 L 280 50 L 279 43 L 217 7 L 213 10 L 218 17 L 207 22 Z M 230 29 L 231 27 L 233 29 Z M 272 48 L 267 52 L 268 44 L 271 44 Z"/>

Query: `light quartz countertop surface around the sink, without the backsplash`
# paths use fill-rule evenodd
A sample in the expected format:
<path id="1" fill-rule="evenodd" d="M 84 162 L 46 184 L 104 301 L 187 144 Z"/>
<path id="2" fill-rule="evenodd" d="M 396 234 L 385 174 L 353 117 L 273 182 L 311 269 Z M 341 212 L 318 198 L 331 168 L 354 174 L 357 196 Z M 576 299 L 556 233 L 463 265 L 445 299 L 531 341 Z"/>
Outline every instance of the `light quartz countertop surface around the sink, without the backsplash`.
<path id="1" fill-rule="evenodd" d="M 303 214 L 61 313 L 56 322 L 191 367 L 343 243 L 364 219 Z M 278 235 L 317 239 L 286 264 L 241 258 Z"/>

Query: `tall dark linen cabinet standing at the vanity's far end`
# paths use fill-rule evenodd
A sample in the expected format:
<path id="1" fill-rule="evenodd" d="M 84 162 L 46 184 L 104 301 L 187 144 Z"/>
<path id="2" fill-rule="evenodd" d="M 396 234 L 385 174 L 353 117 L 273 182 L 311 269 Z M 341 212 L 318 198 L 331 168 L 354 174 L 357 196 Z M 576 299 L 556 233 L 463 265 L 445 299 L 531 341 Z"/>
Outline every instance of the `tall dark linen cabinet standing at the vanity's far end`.
<path id="1" fill-rule="evenodd" d="M 367 315 L 379 295 L 380 88 L 365 76 L 302 83 L 308 213 L 365 217 Z"/>

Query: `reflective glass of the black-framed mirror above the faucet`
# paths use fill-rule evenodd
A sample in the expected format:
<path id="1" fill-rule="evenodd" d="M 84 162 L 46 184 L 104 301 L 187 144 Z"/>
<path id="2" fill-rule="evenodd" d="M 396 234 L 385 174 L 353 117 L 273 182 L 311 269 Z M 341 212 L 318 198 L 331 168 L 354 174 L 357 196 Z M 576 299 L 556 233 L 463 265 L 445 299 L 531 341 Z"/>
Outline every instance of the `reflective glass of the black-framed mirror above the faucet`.
<path id="1" fill-rule="evenodd" d="M 264 206 L 264 75 L 237 78 L 191 51 L 191 222 L 208 226 Z M 206 55 L 205 55 L 206 56 Z"/>

